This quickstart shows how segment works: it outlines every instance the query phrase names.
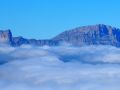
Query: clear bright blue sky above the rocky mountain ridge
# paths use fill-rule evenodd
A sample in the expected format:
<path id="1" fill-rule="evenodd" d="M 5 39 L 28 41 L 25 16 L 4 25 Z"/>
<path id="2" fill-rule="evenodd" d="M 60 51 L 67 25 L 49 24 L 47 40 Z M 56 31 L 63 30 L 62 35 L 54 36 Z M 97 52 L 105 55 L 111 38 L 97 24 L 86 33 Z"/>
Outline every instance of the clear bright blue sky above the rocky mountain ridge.
<path id="1" fill-rule="evenodd" d="M 0 0 L 0 29 L 47 39 L 84 25 L 120 28 L 120 0 Z"/>

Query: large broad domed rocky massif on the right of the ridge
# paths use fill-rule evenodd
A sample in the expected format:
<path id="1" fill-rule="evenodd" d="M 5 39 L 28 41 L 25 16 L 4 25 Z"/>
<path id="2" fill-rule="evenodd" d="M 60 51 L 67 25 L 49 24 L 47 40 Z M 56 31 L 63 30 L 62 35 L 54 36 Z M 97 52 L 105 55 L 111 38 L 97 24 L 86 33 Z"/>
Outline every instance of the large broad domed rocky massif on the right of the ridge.
<path id="1" fill-rule="evenodd" d="M 120 29 L 103 24 L 83 26 L 65 31 L 53 40 L 61 40 L 74 45 L 113 45 L 120 46 Z"/>

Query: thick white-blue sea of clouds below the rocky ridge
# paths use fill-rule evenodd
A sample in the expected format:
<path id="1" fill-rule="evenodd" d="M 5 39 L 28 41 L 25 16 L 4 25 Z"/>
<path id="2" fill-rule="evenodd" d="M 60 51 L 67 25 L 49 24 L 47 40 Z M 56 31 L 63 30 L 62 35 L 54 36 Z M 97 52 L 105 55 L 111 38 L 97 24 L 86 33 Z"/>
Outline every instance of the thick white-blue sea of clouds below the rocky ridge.
<path id="1" fill-rule="evenodd" d="M 120 90 L 120 48 L 1 45 L 0 90 Z"/>

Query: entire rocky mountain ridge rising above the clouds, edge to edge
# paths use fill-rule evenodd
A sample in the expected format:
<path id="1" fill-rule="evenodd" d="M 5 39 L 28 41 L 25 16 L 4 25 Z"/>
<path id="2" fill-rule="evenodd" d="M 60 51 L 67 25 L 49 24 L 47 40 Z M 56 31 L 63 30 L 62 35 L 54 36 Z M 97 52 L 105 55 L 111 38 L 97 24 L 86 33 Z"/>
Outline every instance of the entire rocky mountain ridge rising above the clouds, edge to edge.
<path id="1" fill-rule="evenodd" d="M 75 46 L 112 45 L 120 47 L 120 29 L 104 24 L 82 26 L 62 32 L 49 40 L 13 37 L 10 30 L 0 30 L 0 43 L 11 46 L 21 46 L 23 44 L 58 46 L 64 42 Z"/>

